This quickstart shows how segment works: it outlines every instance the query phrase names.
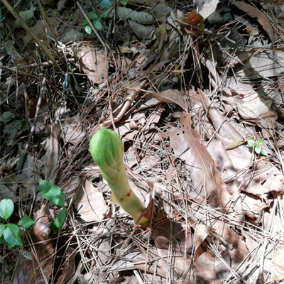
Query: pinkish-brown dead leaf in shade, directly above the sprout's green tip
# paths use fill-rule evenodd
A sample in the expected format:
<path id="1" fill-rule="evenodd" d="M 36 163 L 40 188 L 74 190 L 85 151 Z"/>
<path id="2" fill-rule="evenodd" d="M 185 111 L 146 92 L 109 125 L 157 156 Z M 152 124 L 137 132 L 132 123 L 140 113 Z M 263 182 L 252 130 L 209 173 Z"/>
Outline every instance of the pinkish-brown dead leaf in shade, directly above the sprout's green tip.
<path id="1" fill-rule="evenodd" d="M 102 84 L 107 80 L 107 56 L 104 50 L 86 46 L 79 52 L 82 60 L 82 69 L 87 74 L 89 80 L 94 84 Z"/>

